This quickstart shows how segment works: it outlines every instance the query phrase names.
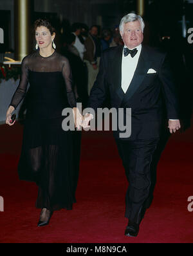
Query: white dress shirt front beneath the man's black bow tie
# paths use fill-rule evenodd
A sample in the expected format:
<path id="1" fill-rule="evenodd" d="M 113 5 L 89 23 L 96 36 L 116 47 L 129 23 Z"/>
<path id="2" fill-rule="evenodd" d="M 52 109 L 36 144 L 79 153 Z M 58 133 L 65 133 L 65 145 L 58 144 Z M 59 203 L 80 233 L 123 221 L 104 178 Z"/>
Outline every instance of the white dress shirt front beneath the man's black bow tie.
<path id="1" fill-rule="evenodd" d="M 136 70 L 136 66 L 138 65 L 138 60 L 139 60 L 140 53 L 141 53 L 141 50 L 142 50 L 142 45 L 138 45 L 138 47 L 134 47 L 134 48 L 136 48 L 138 50 L 138 52 L 136 53 L 136 55 L 133 58 L 131 57 L 131 54 L 128 54 L 127 56 L 124 56 L 124 50 L 123 50 L 123 56 L 122 56 L 122 90 L 125 93 L 127 92 L 127 89 L 129 88 L 131 80 L 133 79 L 134 71 Z M 133 50 L 133 49 L 129 49 L 129 50 Z"/>

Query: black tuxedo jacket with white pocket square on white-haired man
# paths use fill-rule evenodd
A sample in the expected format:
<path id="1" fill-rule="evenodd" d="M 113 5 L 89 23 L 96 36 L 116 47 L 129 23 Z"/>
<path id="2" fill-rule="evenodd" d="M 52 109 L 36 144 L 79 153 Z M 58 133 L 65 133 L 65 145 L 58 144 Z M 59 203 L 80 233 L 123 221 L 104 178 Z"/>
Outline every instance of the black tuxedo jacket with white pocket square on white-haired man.
<path id="1" fill-rule="evenodd" d="M 165 53 L 142 45 L 133 80 L 124 93 L 121 87 L 122 52 L 123 47 L 119 46 L 102 53 L 100 70 L 89 96 L 88 107 L 96 111 L 109 95 L 111 107 L 124 110 L 131 108 L 131 136 L 124 140 L 158 138 L 163 109 L 167 110 L 168 119 L 179 119 L 176 88 L 169 61 Z M 156 70 L 156 73 L 147 74 L 149 69 Z M 113 133 L 115 138 L 120 137 L 119 130 Z"/>

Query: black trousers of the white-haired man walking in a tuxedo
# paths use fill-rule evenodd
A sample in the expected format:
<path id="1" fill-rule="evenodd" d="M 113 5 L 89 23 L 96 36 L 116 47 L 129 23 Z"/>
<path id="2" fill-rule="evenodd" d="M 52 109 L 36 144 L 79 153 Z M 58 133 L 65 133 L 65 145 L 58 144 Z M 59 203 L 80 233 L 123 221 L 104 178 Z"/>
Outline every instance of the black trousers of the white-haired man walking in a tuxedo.
<path id="1" fill-rule="evenodd" d="M 140 224 L 145 202 L 151 188 L 151 162 L 159 138 L 152 140 L 116 139 L 118 153 L 122 158 L 129 182 L 125 197 L 125 217 Z"/>

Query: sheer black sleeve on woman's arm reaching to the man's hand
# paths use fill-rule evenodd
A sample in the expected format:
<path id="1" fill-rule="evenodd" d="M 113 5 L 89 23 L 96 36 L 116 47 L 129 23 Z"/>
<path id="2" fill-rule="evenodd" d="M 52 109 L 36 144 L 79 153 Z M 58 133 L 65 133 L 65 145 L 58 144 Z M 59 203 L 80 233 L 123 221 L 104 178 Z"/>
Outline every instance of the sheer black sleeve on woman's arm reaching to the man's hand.
<path id="1" fill-rule="evenodd" d="M 75 94 L 73 92 L 73 80 L 71 75 L 71 68 L 69 65 L 69 61 L 66 58 L 64 59 L 63 65 L 62 65 L 62 76 L 66 83 L 68 103 L 72 108 L 77 107 L 77 101 L 75 99 Z"/>

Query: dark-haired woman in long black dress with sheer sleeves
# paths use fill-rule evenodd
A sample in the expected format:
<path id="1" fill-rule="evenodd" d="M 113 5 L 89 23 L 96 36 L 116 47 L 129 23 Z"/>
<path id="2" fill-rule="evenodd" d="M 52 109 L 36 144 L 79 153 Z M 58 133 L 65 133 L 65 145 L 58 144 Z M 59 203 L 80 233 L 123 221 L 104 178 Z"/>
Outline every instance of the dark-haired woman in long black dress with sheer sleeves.
<path id="1" fill-rule="evenodd" d="M 6 123 L 14 125 L 12 112 L 26 96 L 30 83 L 18 171 L 21 180 L 39 186 L 36 207 L 42 211 L 38 226 L 45 226 L 53 211 L 72 209 L 76 201 L 74 134 L 62 130 L 62 110 L 71 107 L 76 127 L 80 127 L 82 115 L 76 107 L 68 59 L 55 51 L 54 28 L 42 19 L 35 21 L 34 28 L 37 51 L 22 61 L 21 79 Z"/>

